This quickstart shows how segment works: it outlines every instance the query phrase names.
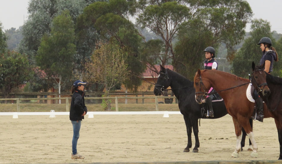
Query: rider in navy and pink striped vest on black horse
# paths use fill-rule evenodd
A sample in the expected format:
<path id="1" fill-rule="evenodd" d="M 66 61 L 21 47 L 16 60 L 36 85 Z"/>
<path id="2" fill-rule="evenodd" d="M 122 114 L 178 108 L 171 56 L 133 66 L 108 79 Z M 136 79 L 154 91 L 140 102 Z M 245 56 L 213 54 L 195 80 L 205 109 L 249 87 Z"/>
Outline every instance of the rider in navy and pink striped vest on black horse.
<path id="1" fill-rule="evenodd" d="M 217 62 L 214 60 L 215 49 L 213 47 L 207 47 L 205 50 L 206 60 L 204 62 L 205 70 L 217 70 Z M 212 90 L 211 88 L 209 92 Z M 212 108 L 211 97 L 206 97 L 206 103 L 208 105 L 209 117 L 214 117 L 214 110 Z M 205 114 L 206 115 L 206 114 Z"/>

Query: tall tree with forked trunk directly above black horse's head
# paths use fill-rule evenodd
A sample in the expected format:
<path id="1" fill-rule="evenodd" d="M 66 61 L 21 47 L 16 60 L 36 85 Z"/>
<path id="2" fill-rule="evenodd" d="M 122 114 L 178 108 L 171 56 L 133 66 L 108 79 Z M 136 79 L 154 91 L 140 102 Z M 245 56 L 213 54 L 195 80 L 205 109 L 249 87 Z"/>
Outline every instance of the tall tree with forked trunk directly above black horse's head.
<path id="1" fill-rule="evenodd" d="M 170 58 L 174 59 L 172 41 L 182 23 L 191 19 L 190 9 L 183 4 L 184 1 L 139 1 L 141 13 L 138 15 L 137 24 L 142 28 L 149 28 L 164 42 L 164 52 L 159 59 L 165 65 Z"/>

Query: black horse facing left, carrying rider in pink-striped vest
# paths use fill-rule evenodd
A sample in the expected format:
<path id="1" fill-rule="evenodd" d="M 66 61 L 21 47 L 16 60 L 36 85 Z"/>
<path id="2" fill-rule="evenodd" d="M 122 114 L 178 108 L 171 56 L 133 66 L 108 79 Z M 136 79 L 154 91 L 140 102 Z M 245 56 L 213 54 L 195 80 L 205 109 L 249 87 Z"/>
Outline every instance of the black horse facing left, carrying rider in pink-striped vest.
<path id="1" fill-rule="evenodd" d="M 187 136 L 188 136 L 188 144 L 184 149 L 184 152 L 189 152 L 192 147 L 192 128 L 195 136 L 195 147 L 193 148 L 193 152 L 198 152 L 198 147 L 200 147 L 199 137 L 198 137 L 198 119 L 199 118 L 207 118 L 205 115 L 201 113 L 202 104 L 198 104 L 195 101 L 195 89 L 194 82 L 189 81 L 184 76 L 164 68 L 161 66 L 161 70 L 159 72 L 158 80 L 154 88 L 154 94 L 156 96 L 161 95 L 169 86 L 171 87 L 172 92 L 178 100 L 178 107 L 181 114 L 184 117 L 184 121 L 186 124 Z M 208 119 L 221 118 L 227 114 L 226 107 L 224 101 L 213 102 L 212 103 L 214 109 L 214 117 L 208 117 Z M 250 119 L 251 126 L 253 125 L 253 120 Z M 242 130 L 242 140 L 241 140 L 241 151 L 245 146 L 245 138 L 246 132 Z M 249 145 L 251 145 L 251 141 L 249 140 Z M 249 149 L 248 149 L 249 150 Z M 252 149 L 250 150 L 252 151 Z"/>

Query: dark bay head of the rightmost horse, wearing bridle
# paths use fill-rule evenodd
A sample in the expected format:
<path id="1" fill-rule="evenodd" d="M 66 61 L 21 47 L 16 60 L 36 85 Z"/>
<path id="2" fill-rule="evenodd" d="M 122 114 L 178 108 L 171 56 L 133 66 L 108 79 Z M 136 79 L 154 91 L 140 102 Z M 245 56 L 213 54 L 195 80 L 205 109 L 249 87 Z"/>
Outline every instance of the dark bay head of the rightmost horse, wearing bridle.
<path id="1" fill-rule="evenodd" d="M 266 83 L 266 72 L 264 71 L 264 65 L 256 66 L 254 62 L 252 62 L 252 85 L 257 90 L 257 93 L 262 93 L 263 96 L 269 96 L 270 95 L 270 89 L 267 86 Z"/>

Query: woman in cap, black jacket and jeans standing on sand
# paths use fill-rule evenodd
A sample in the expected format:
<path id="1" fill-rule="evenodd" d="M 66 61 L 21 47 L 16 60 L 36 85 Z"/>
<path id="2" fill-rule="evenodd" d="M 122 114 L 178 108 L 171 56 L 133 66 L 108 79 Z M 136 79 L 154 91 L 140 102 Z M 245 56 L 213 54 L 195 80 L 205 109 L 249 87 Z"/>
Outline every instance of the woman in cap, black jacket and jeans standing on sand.
<path id="1" fill-rule="evenodd" d="M 72 154 L 71 159 L 84 159 L 82 155 L 79 155 L 76 150 L 77 140 L 79 138 L 79 131 L 81 127 L 81 121 L 84 119 L 84 115 L 87 113 L 87 108 L 84 104 L 84 85 L 86 82 L 77 80 L 73 83 L 71 87 L 71 97 L 70 104 L 70 121 L 73 124 L 73 140 L 72 140 Z"/>

